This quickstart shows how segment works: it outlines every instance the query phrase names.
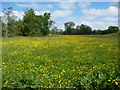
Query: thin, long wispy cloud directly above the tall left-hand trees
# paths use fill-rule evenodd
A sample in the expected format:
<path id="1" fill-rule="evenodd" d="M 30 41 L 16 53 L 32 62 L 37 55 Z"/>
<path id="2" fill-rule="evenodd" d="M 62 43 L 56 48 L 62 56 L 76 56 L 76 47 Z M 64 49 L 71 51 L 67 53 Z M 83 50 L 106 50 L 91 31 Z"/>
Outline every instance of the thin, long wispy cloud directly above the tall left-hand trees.
<path id="1" fill-rule="evenodd" d="M 51 9 L 51 8 L 53 8 L 53 5 L 51 5 L 51 4 L 41 5 L 41 4 L 37 4 L 37 3 L 16 4 L 16 6 L 23 7 L 23 8 L 35 8 L 35 9 Z"/>

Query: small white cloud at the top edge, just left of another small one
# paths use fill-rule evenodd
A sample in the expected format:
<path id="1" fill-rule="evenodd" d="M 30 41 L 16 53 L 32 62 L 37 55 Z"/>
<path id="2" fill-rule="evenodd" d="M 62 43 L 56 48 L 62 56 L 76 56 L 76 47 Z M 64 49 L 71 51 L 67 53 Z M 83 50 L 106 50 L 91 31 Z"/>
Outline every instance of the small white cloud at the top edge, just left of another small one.
<path id="1" fill-rule="evenodd" d="M 62 9 L 74 9 L 75 8 L 75 2 L 60 2 L 57 4 Z"/>

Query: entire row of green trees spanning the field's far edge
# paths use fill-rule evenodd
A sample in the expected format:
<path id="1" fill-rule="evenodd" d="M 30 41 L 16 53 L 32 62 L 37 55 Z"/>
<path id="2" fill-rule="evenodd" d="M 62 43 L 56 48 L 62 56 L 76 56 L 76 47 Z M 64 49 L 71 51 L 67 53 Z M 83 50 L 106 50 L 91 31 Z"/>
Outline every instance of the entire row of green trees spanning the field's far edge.
<path id="1" fill-rule="evenodd" d="M 4 8 L 4 15 L 0 17 L 2 24 L 2 36 L 46 36 L 48 34 L 62 35 L 102 35 L 116 33 L 119 31 L 117 26 L 109 26 L 107 30 L 92 30 L 88 25 L 77 25 L 74 22 L 64 23 L 64 31 L 54 26 L 50 13 L 35 15 L 35 11 L 26 9 L 22 20 L 18 20 L 13 13 L 12 7 Z"/>

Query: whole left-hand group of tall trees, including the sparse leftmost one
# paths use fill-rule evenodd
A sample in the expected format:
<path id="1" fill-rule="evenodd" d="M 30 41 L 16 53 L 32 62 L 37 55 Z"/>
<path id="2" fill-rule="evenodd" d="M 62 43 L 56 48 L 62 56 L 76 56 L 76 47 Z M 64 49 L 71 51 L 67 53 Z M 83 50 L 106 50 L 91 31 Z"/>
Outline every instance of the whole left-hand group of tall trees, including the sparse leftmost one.
<path id="1" fill-rule="evenodd" d="M 26 9 L 23 20 L 16 20 L 12 13 L 12 7 L 4 10 L 2 23 L 3 36 L 46 36 L 50 33 L 53 21 L 50 19 L 50 13 L 44 15 L 35 15 L 32 8 Z"/>

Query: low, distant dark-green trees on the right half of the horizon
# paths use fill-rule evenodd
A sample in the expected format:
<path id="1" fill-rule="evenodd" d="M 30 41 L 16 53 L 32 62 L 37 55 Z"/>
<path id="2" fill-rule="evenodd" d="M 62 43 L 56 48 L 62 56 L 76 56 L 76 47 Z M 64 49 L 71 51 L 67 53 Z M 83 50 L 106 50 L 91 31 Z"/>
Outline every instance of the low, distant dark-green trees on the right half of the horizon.
<path id="1" fill-rule="evenodd" d="M 110 33 L 117 33 L 119 28 L 117 26 L 109 26 L 107 30 L 92 30 L 90 26 L 81 24 L 75 27 L 74 22 L 67 22 L 64 24 L 65 31 L 63 32 L 64 35 L 103 35 L 103 34 L 110 34 Z M 75 27 L 75 28 L 74 28 Z"/>

